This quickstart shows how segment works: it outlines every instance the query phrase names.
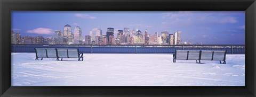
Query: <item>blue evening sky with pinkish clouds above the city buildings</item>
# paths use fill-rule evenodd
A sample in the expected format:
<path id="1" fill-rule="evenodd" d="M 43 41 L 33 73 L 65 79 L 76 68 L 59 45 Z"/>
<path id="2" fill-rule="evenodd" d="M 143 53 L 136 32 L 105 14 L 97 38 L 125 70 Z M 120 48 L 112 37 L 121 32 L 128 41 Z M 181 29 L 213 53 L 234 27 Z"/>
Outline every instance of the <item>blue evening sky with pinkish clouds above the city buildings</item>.
<path id="1" fill-rule="evenodd" d="M 74 34 L 76 27 L 82 29 L 82 38 L 97 29 L 106 35 L 107 28 L 114 28 L 114 36 L 124 28 L 139 29 L 145 35 L 167 31 L 182 31 L 183 41 L 203 44 L 244 44 L 244 12 L 12 12 L 12 30 L 23 36 L 52 37 L 55 30 L 63 31 L 69 24 Z M 65 19 L 66 17 L 66 19 Z M 115 18 L 115 19 L 113 19 Z M 79 21 L 80 20 L 80 21 Z M 65 23 L 68 22 L 68 23 Z M 24 24 L 25 23 L 25 24 Z M 105 28 L 106 27 L 106 28 Z"/>

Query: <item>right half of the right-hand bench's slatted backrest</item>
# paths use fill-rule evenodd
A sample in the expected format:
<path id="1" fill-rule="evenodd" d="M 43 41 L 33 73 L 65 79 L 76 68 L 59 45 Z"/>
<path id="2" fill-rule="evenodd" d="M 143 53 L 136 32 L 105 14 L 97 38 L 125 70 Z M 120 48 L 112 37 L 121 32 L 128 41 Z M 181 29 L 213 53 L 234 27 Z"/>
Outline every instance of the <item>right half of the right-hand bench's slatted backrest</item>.
<path id="1" fill-rule="evenodd" d="M 200 60 L 225 60 L 227 51 L 201 51 Z"/>

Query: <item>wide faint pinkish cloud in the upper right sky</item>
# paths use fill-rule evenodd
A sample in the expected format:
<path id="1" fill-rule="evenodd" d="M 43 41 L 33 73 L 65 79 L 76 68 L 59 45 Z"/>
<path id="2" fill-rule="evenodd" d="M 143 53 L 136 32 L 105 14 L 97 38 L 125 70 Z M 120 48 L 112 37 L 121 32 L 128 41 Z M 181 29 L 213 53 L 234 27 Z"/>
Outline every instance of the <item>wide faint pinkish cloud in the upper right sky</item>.
<path id="1" fill-rule="evenodd" d="M 230 24 L 237 23 L 235 14 L 223 12 L 167 12 L 162 14 L 162 24 Z"/>

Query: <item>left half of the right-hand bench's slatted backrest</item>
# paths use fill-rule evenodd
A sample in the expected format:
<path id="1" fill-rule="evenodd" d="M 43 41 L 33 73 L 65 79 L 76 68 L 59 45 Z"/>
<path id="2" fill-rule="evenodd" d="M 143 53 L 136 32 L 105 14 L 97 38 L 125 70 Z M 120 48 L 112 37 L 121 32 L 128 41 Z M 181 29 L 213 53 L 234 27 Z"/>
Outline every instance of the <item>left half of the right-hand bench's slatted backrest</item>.
<path id="1" fill-rule="evenodd" d="M 175 58 L 180 60 L 199 60 L 200 50 L 175 50 Z"/>

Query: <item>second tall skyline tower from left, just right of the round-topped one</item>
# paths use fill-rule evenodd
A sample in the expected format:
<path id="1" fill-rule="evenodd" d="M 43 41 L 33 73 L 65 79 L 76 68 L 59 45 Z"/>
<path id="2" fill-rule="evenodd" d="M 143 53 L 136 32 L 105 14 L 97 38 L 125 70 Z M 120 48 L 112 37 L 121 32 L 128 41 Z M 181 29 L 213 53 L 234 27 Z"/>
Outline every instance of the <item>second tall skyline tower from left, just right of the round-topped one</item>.
<path id="1" fill-rule="evenodd" d="M 74 43 L 81 44 L 82 42 L 83 42 L 82 29 L 80 27 L 76 27 L 74 30 Z"/>

